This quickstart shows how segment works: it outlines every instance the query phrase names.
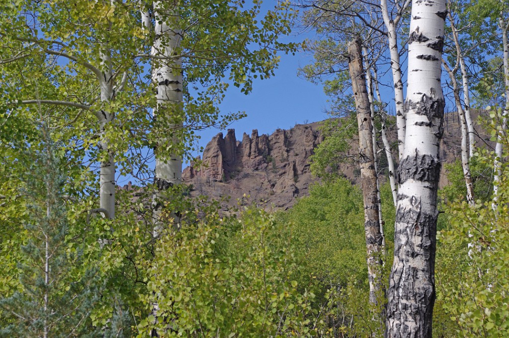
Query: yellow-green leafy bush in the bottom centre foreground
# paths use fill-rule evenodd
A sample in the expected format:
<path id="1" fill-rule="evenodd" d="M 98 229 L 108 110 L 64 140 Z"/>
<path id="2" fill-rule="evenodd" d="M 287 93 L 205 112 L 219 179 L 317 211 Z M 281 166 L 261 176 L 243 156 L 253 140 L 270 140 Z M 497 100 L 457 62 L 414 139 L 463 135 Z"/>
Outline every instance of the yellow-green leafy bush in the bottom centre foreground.
<path id="1" fill-rule="evenodd" d="M 139 336 L 311 336 L 306 315 L 314 295 L 300 292 L 289 229 L 256 209 L 240 218 L 217 209 L 183 215 L 179 232 L 163 236 L 147 271 L 147 306 L 157 319 L 139 323 Z M 195 223 L 186 223 L 194 218 Z"/>

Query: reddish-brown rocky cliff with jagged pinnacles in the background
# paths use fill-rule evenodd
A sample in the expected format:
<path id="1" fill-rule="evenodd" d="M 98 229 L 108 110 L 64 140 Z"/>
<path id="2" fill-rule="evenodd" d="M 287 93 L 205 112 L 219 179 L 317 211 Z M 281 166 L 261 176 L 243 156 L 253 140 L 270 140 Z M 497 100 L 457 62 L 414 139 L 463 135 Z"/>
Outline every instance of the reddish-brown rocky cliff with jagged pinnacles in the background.
<path id="1" fill-rule="evenodd" d="M 234 129 L 226 136 L 217 134 L 208 143 L 199 158 L 202 165 L 185 168 L 183 180 L 192 184 L 192 194 L 205 194 L 212 198 L 229 195 L 230 205 L 237 200 L 243 204 L 256 203 L 266 209 L 288 209 L 296 198 L 306 195 L 309 185 L 317 181 L 309 170 L 309 156 L 323 141 L 319 122 L 296 125 L 290 130 L 277 129 L 269 135 L 244 133 L 237 140 Z M 461 138 L 458 115 L 449 113 L 444 121 L 444 138 L 441 156 L 445 162 L 461 157 Z M 394 131 L 389 135 L 395 142 Z M 355 156 L 357 140 L 352 140 L 350 154 Z M 342 172 L 352 182 L 358 171 L 352 163 L 342 164 Z M 440 185 L 447 181 L 442 167 Z"/>

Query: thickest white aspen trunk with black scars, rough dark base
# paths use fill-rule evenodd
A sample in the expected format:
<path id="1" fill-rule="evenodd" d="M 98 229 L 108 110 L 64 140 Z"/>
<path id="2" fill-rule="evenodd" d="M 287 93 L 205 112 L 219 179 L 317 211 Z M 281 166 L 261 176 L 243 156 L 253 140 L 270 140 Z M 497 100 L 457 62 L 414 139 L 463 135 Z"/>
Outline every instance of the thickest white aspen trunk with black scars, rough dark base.
<path id="1" fill-rule="evenodd" d="M 413 0 L 407 124 L 398 175 L 386 337 L 432 336 L 439 145 L 445 106 L 440 78 L 446 14 L 445 0 Z"/>

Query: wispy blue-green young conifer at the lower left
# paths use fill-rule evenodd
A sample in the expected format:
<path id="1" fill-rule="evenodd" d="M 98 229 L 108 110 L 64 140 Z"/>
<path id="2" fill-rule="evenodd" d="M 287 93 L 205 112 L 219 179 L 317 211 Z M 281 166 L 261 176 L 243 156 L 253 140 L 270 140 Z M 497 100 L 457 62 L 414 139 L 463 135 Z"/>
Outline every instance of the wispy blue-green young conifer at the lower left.
<path id="1" fill-rule="evenodd" d="M 19 194 L 30 201 L 23 210 L 18 234 L 23 245 L 18 256 L 16 290 L 0 299 L 5 337 L 95 336 L 90 314 L 100 297 L 97 267 L 74 250 L 63 197 L 66 175 L 62 157 L 43 125 L 40 144 L 27 145 L 24 185 Z M 16 248 L 13 248 L 16 249 Z M 9 292 L 8 292 L 9 294 Z"/>

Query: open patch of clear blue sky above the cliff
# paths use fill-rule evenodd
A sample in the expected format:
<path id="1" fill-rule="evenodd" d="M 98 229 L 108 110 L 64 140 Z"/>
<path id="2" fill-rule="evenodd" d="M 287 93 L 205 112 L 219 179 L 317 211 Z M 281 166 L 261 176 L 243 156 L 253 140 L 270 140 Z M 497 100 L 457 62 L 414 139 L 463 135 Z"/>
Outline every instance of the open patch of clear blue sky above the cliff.
<path id="1" fill-rule="evenodd" d="M 274 0 L 266 0 L 264 7 L 272 7 L 274 3 Z M 297 33 L 285 40 L 302 41 L 304 38 L 314 38 L 314 34 L 310 32 Z M 264 80 L 254 79 L 253 90 L 249 95 L 244 95 L 239 89 L 230 86 L 221 103 L 223 114 L 236 111 L 245 111 L 247 114 L 247 117 L 229 126 L 235 129 L 237 139 L 242 139 L 244 132 L 250 135 L 252 129 L 258 129 L 259 134 L 271 134 L 277 128 L 290 129 L 296 123 L 327 118 L 325 111 L 328 108 L 328 98 L 323 93 L 323 87 L 297 76 L 299 67 L 313 61 L 312 55 L 299 51 L 295 55 L 280 53 L 279 56 L 281 61 L 275 76 Z M 225 135 L 226 131 L 216 128 L 201 131 L 202 139 L 199 145 L 205 147 L 213 136 L 219 132 Z"/>

